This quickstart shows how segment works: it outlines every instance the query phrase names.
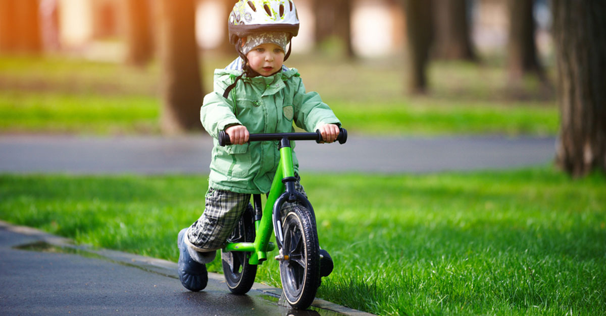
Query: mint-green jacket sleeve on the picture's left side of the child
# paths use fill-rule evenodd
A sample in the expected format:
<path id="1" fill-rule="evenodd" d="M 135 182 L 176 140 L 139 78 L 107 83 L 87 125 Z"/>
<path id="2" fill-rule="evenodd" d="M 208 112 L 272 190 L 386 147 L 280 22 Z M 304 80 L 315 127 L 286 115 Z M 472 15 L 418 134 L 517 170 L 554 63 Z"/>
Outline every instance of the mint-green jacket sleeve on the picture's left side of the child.
<path id="1" fill-rule="evenodd" d="M 226 80 L 229 79 L 228 76 L 225 77 L 227 77 Z M 202 126 L 213 138 L 217 138 L 219 131 L 225 130 L 230 125 L 242 125 L 236 118 L 233 100 L 223 97 L 225 88 L 227 88 L 225 80 L 216 81 L 215 91 L 204 96 L 200 108 Z"/>

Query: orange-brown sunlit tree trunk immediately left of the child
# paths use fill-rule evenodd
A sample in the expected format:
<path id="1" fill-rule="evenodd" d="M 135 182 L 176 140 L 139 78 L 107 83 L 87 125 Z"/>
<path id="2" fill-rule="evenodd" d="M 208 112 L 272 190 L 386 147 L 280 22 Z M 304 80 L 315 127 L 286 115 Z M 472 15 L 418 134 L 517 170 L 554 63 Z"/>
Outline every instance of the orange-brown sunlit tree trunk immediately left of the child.
<path id="1" fill-rule="evenodd" d="M 176 134 L 198 130 L 202 85 L 195 38 L 194 0 L 158 0 L 162 63 L 161 129 Z"/>

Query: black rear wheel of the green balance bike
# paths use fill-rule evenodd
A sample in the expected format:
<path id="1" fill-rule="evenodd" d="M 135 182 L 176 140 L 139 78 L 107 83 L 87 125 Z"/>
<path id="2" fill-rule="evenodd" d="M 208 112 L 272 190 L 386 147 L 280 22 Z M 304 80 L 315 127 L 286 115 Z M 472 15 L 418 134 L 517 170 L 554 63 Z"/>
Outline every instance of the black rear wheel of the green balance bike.
<path id="1" fill-rule="evenodd" d="M 233 229 L 228 242 L 254 242 L 255 220 L 253 208 L 248 206 Z M 245 294 L 255 283 L 257 266 L 248 263 L 250 252 L 221 250 L 221 263 L 227 287 L 234 294 Z"/>

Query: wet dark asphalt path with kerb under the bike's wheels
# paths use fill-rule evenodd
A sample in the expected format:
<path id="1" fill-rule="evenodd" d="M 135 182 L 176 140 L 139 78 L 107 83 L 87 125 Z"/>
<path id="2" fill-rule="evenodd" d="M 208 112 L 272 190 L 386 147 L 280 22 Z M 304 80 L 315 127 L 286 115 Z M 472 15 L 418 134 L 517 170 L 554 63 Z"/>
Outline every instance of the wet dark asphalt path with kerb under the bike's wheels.
<path id="1" fill-rule="evenodd" d="M 185 290 L 176 263 L 73 246 L 0 221 L 1 315 L 370 315 L 316 299 L 307 311 L 278 304 L 281 290 L 255 283 L 233 295 L 222 275 Z"/>

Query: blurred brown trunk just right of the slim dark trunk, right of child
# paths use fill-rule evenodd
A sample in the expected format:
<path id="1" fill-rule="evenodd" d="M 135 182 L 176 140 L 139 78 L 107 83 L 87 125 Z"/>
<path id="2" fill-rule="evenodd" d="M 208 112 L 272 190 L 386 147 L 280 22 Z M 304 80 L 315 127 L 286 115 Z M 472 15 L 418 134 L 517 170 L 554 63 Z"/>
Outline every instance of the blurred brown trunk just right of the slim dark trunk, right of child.
<path id="1" fill-rule="evenodd" d="M 471 45 L 468 0 L 433 0 L 435 18 L 434 53 L 439 59 L 475 61 Z"/>

